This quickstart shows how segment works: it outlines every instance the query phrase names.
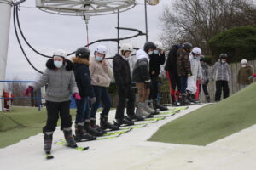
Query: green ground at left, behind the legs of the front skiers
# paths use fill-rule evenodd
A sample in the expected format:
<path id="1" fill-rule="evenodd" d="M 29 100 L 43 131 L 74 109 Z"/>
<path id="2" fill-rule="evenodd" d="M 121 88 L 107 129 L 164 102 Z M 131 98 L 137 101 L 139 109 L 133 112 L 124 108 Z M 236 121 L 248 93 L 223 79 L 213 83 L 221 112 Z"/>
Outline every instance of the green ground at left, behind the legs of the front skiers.
<path id="1" fill-rule="evenodd" d="M 98 109 L 102 111 L 102 108 Z M 70 110 L 75 119 L 76 110 Z M 42 133 L 47 119 L 47 111 L 36 107 L 13 107 L 10 112 L 0 112 L 0 148 L 15 144 L 21 139 Z M 61 124 L 59 119 L 58 126 Z"/>

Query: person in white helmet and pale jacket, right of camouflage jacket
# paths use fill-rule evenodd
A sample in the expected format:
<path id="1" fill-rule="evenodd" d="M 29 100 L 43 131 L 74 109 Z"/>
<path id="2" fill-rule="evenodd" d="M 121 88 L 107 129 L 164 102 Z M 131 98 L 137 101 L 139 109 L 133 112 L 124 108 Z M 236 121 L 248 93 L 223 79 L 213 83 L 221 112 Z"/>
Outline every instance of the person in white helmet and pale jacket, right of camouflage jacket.
<path id="1" fill-rule="evenodd" d="M 188 98 L 189 101 L 195 103 L 195 93 L 197 90 L 196 82 L 201 80 L 201 64 L 200 64 L 201 48 L 193 48 L 189 54 L 192 76 L 188 77 Z"/>

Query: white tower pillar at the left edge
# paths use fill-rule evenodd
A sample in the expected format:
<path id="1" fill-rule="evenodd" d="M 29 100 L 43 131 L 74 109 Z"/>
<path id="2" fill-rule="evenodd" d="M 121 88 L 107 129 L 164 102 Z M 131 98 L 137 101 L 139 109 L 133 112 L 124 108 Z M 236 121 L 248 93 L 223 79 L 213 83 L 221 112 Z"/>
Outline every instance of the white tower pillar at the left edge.
<path id="1" fill-rule="evenodd" d="M 11 7 L 12 0 L 0 0 L 0 80 L 5 80 Z M 0 96 L 2 95 L 3 82 L 0 82 Z M 3 99 L 0 99 L 0 111 L 3 111 Z"/>

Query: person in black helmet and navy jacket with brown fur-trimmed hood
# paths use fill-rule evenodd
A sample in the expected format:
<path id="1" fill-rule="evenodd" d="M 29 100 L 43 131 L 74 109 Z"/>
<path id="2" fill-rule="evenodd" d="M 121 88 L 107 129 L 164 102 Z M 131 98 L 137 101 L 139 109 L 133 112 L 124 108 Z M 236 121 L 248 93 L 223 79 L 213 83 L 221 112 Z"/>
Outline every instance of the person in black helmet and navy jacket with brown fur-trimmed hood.
<path id="1" fill-rule="evenodd" d="M 90 126 L 90 106 L 96 102 L 96 97 L 92 86 L 90 85 L 89 71 L 90 50 L 88 48 L 78 48 L 76 57 L 73 57 L 74 74 L 79 88 L 79 94 L 82 99 L 76 100 L 77 115 L 75 120 L 76 140 L 93 140 L 95 136 L 101 136 L 103 133 Z M 86 131 L 88 133 L 86 133 Z M 91 134 L 91 135 L 90 135 Z"/>

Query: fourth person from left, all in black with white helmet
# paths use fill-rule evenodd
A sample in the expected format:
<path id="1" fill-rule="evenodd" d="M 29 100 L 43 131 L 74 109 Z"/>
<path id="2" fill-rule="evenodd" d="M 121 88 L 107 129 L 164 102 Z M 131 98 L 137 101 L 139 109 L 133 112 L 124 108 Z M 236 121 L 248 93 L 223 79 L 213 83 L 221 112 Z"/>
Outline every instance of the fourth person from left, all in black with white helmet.
<path id="1" fill-rule="evenodd" d="M 137 116 L 135 110 L 135 94 L 131 89 L 131 71 L 129 65 L 129 58 L 133 48 L 131 44 L 121 44 L 120 54 L 113 57 L 113 75 L 118 88 L 119 103 L 115 113 L 116 125 L 120 126 L 133 125 L 131 120 L 143 121 L 143 117 Z M 127 101 L 126 113 L 129 118 L 125 118 L 125 104 Z"/>

